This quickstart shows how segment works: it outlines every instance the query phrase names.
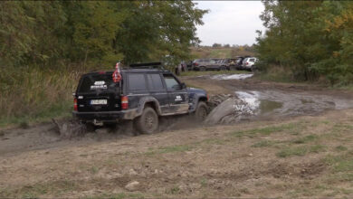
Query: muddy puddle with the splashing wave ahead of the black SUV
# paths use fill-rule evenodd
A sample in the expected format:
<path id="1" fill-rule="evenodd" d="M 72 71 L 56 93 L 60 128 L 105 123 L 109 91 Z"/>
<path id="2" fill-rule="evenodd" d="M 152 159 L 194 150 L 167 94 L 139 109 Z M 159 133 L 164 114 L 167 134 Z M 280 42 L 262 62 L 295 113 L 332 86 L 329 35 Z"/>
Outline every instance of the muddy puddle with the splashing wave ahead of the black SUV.
<path id="1" fill-rule="evenodd" d="M 309 92 L 280 90 L 235 91 L 205 120 L 206 124 L 231 124 L 240 120 L 317 115 L 329 109 L 353 108 L 353 100 Z"/>

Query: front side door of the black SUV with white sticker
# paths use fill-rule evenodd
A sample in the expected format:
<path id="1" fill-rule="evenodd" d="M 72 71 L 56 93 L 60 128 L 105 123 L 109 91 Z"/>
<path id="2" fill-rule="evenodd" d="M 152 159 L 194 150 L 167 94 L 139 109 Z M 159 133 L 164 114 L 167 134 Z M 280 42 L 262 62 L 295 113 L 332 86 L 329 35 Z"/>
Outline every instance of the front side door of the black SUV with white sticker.
<path id="1" fill-rule="evenodd" d="M 163 79 L 167 87 L 170 114 L 187 113 L 189 109 L 186 88 L 171 73 L 164 73 Z"/>

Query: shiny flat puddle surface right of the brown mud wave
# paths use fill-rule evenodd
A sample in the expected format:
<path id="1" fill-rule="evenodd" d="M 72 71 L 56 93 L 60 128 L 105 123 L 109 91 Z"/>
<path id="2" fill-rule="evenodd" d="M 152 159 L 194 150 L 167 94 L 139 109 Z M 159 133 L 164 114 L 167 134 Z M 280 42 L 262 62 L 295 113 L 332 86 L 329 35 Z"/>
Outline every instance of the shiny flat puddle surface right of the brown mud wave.
<path id="1" fill-rule="evenodd" d="M 327 109 L 348 109 L 353 100 L 308 92 L 277 90 L 235 91 L 236 96 L 253 109 L 253 115 L 298 116 L 315 115 Z"/>

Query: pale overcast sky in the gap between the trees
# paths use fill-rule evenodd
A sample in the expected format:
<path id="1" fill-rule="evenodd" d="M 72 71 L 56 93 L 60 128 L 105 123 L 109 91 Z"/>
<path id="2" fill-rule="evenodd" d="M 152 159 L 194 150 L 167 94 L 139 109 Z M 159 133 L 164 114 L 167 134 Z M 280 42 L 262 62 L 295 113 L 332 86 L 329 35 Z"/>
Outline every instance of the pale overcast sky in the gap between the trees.
<path id="1" fill-rule="evenodd" d="M 208 9 L 204 25 L 197 26 L 202 45 L 255 43 L 256 30 L 264 30 L 259 15 L 264 10 L 260 1 L 195 1 L 196 7 Z"/>

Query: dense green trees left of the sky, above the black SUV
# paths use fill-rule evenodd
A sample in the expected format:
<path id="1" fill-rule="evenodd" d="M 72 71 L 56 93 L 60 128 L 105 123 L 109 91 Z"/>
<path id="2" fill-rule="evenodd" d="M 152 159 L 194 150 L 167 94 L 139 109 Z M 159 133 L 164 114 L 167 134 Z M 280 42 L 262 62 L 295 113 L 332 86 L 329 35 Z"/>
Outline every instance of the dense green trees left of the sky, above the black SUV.
<path id="1" fill-rule="evenodd" d="M 186 59 L 205 13 L 192 1 L 1 1 L 0 67 Z"/>

